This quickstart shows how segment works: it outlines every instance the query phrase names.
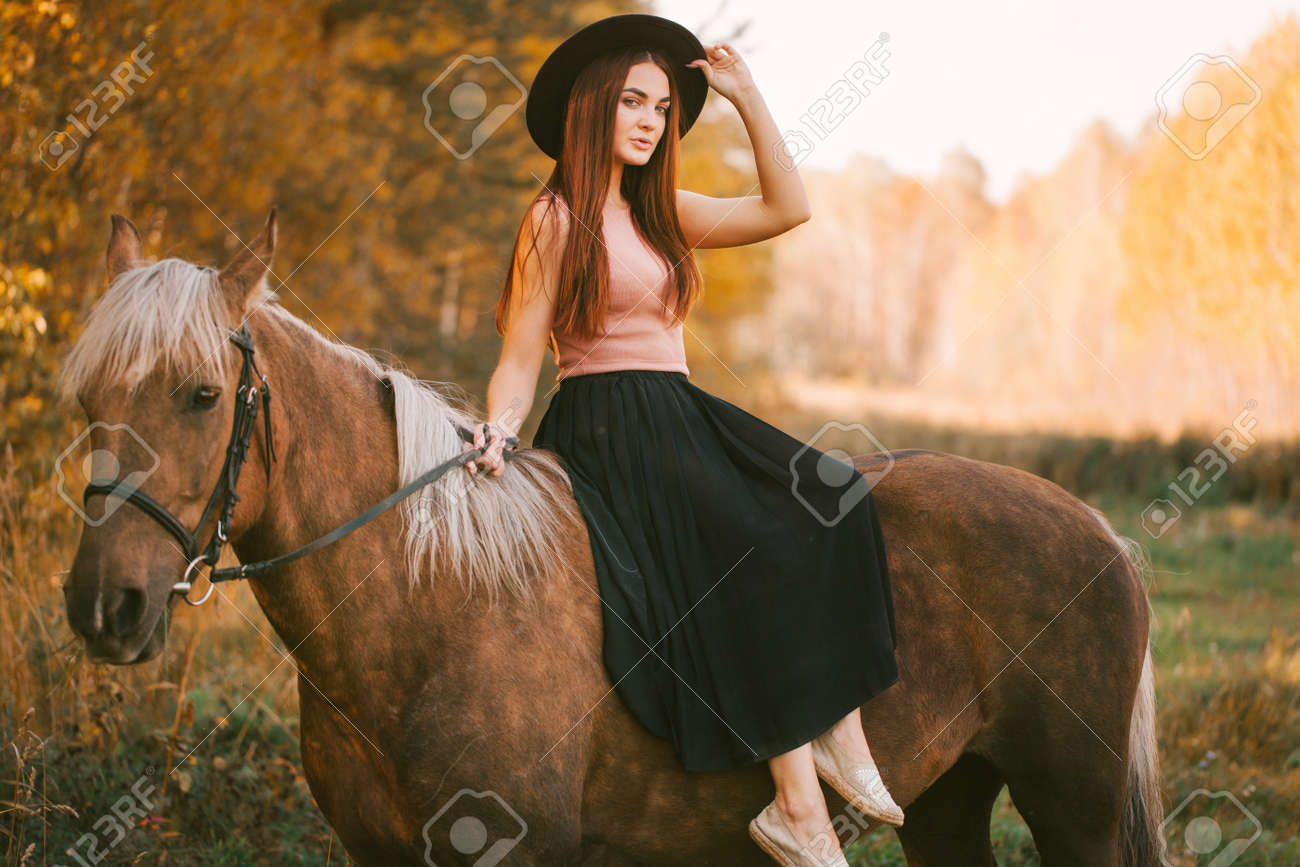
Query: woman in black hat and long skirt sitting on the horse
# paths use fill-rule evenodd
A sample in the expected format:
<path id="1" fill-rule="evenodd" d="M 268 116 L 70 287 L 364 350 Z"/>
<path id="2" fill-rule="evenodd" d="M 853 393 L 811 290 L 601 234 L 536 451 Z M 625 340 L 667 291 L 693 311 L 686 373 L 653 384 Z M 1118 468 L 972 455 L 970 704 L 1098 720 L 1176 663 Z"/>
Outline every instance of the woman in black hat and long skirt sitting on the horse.
<path id="1" fill-rule="evenodd" d="M 708 87 L 744 118 L 760 196 L 675 187 L 679 138 Z M 497 308 L 491 421 L 467 448 L 490 447 L 465 467 L 506 472 L 504 437 L 528 415 L 550 342 L 559 385 L 533 445 L 566 460 L 586 517 L 616 690 L 689 771 L 767 760 L 776 797 L 750 835 L 774 859 L 846 867 L 818 775 L 902 824 L 859 718 L 898 680 L 875 507 L 859 494 L 837 515 L 848 485 L 818 472 L 832 459 L 698 389 L 682 343 L 702 289 L 690 251 L 807 220 L 800 177 L 776 161 L 744 61 L 725 43 L 706 56 L 664 18 L 580 30 L 528 99 L 529 131 L 556 164 Z"/>

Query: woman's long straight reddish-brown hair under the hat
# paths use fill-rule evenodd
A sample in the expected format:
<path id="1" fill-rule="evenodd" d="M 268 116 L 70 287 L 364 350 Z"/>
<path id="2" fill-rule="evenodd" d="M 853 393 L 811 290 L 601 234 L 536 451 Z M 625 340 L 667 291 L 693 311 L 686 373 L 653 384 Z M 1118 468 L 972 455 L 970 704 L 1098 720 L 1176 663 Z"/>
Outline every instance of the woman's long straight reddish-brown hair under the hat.
<path id="1" fill-rule="evenodd" d="M 645 165 L 624 165 L 619 190 L 630 205 L 632 224 L 649 242 L 676 283 L 677 298 L 673 316 L 685 318 L 692 304 L 703 291 L 703 278 L 696 257 L 677 221 L 677 142 L 679 113 L 677 81 L 668 61 L 646 48 L 621 48 L 604 53 L 588 64 L 573 82 L 564 113 L 564 139 L 560 157 L 532 205 L 545 201 L 542 220 L 550 209 L 564 207 L 572 211 L 569 233 L 560 260 L 558 298 L 552 328 L 592 338 L 601 333 L 601 324 L 608 305 L 608 256 L 606 255 L 602 213 L 614 173 L 614 122 L 619 97 L 628 78 L 628 70 L 640 62 L 654 62 L 668 78 L 668 110 L 664 131 L 658 147 Z M 559 196 L 559 201 L 551 195 Z M 515 248 L 506 283 L 497 302 L 497 333 L 506 333 L 506 313 L 510 309 L 516 261 L 520 256 L 520 238 L 524 229 L 532 229 L 525 212 L 515 233 Z M 537 252 L 537 233 L 530 230 L 528 255 Z M 523 263 L 520 261 L 520 268 Z M 542 265 L 538 257 L 538 265 Z"/>

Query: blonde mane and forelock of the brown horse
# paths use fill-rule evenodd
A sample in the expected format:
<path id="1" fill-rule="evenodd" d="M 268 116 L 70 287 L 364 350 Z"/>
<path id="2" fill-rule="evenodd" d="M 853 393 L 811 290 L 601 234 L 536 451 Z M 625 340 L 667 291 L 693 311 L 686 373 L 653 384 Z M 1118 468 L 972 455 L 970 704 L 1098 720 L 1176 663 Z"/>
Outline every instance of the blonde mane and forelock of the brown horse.
<path id="1" fill-rule="evenodd" d="M 454 382 L 417 380 L 328 339 L 281 307 L 264 282 L 246 309 L 251 325 L 256 313 L 276 317 L 299 331 L 304 350 L 317 344 L 390 383 L 400 485 L 462 451 L 452 422 L 472 428 L 480 421 Z M 217 272 L 181 259 L 133 268 L 96 302 L 62 365 L 60 391 L 66 398 L 114 383 L 134 387 L 160 365 L 177 377 L 200 369 L 224 377 L 230 329 Z M 530 599 L 533 585 L 556 571 L 577 575 L 566 550 L 575 523 L 584 526 L 572 490 L 560 460 L 545 450 L 520 448 L 498 478 L 459 468 L 443 474 L 400 506 L 408 589 L 432 582 L 433 575 L 455 575 L 467 603 L 486 593 L 495 604 L 503 591 Z"/>

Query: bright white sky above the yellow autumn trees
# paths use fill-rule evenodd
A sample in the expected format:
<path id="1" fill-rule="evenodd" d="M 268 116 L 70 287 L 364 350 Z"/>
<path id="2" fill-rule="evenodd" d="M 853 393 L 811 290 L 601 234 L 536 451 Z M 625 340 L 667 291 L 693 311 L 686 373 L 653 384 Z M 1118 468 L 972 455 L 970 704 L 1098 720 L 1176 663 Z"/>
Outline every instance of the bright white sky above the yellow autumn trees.
<path id="1" fill-rule="evenodd" d="M 1192 55 L 1228 55 L 1249 74 L 1249 45 L 1274 17 L 1296 9 L 1300 0 L 656 3 L 658 14 L 705 44 L 750 21 L 731 42 L 776 126 L 802 130 L 812 143 L 801 166 L 840 168 L 861 151 L 896 172 L 932 177 L 945 152 L 966 147 L 1000 201 L 1020 173 L 1052 169 L 1093 118 L 1132 140 L 1154 123 L 1156 94 Z M 881 32 L 889 35 L 880 55 L 888 75 L 818 135 L 800 117 Z"/>

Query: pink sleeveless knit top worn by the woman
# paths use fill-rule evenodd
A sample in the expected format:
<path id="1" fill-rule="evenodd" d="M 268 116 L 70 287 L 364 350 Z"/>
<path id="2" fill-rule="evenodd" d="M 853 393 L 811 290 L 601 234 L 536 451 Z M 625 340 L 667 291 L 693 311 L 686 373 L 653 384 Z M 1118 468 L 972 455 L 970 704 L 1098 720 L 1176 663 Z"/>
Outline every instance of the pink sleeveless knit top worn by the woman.
<path id="1" fill-rule="evenodd" d="M 551 348 L 560 368 L 555 381 L 623 369 L 689 374 L 682 326 L 673 324 L 676 287 L 668 279 L 667 264 L 637 234 L 630 211 L 606 205 L 603 221 L 610 261 L 604 333 L 582 339 L 551 329 Z"/>

